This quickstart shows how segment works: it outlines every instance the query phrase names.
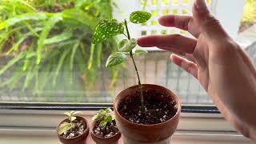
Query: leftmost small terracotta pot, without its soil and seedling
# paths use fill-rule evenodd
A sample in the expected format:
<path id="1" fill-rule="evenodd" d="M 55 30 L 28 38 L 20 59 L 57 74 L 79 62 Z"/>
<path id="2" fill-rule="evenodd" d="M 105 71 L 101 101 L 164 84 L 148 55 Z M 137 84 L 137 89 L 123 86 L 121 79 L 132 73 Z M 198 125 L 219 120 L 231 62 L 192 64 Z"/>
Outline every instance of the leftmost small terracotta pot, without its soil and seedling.
<path id="1" fill-rule="evenodd" d="M 83 134 L 74 137 L 74 138 L 63 138 L 61 135 L 58 134 L 58 127 L 57 127 L 57 134 L 58 134 L 58 139 L 64 143 L 64 144 L 86 144 L 86 138 L 89 134 L 89 124 L 86 121 L 85 118 L 79 117 L 79 116 L 75 116 L 78 120 L 82 120 L 82 122 L 86 123 L 86 130 L 83 132 Z M 62 122 L 68 122 L 68 118 L 66 118 L 65 120 L 63 120 Z M 62 122 L 60 122 L 60 124 L 62 124 Z M 60 124 L 58 124 L 58 126 L 60 126 Z"/>

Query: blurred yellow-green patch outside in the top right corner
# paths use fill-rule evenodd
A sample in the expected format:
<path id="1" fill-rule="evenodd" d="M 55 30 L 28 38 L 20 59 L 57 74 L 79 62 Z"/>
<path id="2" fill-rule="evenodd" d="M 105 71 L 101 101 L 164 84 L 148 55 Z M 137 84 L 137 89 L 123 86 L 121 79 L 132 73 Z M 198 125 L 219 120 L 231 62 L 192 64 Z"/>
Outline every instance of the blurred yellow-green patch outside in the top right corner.
<path id="1" fill-rule="evenodd" d="M 246 30 L 256 23 L 256 0 L 246 0 L 243 10 L 239 31 Z"/>

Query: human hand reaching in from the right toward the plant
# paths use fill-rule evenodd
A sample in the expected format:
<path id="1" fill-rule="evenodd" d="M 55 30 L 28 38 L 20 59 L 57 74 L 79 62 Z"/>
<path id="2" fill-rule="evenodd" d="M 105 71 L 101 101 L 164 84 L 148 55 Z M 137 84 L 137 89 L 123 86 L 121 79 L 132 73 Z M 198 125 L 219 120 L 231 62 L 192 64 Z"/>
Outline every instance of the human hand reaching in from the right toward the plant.
<path id="1" fill-rule="evenodd" d="M 256 109 L 254 65 L 210 14 L 204 0 L 196 0 L 192 11 L 192 17 L 166 15 L 159 23 L 187 30 L 194 38 L 152 35 L 138 38 L 138 45 L 174 51 L 171 61 L 198 78 L 218 110 L 242 134 L 256 139 L 256 115 L 252 116 Z"/>

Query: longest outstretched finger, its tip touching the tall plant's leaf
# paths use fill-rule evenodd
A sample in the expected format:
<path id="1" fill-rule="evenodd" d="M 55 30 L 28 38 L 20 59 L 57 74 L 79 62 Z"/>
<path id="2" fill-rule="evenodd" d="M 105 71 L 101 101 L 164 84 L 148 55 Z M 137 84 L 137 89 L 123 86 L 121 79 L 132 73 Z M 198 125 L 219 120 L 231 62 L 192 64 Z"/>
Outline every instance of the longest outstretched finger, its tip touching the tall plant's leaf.
<path id="1" fill-rule="evenodd" d="M 179 34 L 170 35 L 150 35 L 137 40 L 138 46 L 153 47 L 157 46 L 162 50 L 179 51 L 182 53 L 192 54 L 197 45 L 193 38 L 187 38 Z"/>

